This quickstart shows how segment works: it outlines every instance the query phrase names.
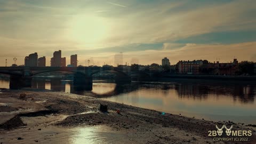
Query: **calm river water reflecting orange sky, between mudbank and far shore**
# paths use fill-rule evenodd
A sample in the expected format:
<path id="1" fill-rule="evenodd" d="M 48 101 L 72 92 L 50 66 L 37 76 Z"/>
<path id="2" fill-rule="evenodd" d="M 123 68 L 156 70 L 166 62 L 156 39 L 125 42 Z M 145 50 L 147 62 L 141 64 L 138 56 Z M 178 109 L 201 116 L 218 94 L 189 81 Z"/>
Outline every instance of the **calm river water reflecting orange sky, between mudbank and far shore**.
<path id="1" fill-rule="evenodd" d="M 1 78 L 0 87 L 9 89 L 9 79 Z M 33 79 L 32 87 L 89 95 L 126 105 L 165 113 L 204 118 L 210 121 L 256 122 L 256 84 L 169 80 L 169 82 L 132 82 L 118 85 L 93 81 L 91 91 L 78 91 L 72 81 Z"/>

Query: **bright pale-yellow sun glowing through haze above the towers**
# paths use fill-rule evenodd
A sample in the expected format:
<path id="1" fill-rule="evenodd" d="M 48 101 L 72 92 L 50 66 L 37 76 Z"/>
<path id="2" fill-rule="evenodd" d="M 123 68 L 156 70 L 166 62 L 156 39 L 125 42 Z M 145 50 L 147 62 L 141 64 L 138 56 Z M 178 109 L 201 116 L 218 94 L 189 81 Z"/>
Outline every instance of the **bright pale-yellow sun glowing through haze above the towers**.
<path id="1" fill-rule="evenodd" d="M 71 22 L 71 37 L 83 44 L 99 43 L 107 36 L 107 33 L 107 22 L 100 17 L 77 15 Z"/>

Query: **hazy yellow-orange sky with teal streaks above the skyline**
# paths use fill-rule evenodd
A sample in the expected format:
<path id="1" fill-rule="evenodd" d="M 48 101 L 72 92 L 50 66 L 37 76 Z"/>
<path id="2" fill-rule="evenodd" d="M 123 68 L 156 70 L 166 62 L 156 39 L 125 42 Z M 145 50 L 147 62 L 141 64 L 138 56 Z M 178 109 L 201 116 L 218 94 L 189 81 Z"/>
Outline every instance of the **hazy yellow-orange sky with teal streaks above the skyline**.
<path id="1" fill-rule="evenodd" d="M 78 55 L 78 65 L 171 65 L 179 60 L 256 62 L 254 0 L 0 0 L 0 66 L 23 65 L 37 52 L 50 66 L 53 52 Z"/>

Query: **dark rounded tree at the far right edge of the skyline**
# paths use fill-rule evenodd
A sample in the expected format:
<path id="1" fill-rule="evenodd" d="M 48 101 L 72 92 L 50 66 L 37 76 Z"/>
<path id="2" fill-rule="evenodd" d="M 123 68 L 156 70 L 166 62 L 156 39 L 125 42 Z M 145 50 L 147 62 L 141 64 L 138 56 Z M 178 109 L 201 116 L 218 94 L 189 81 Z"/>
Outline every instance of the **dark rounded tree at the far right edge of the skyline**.
<path id="1" fill-rule="evenodd" d="M 238 74 L 250 74 L 254 73 L 254 62 L 252 61 L 241 61 L 238 63 Z"/>

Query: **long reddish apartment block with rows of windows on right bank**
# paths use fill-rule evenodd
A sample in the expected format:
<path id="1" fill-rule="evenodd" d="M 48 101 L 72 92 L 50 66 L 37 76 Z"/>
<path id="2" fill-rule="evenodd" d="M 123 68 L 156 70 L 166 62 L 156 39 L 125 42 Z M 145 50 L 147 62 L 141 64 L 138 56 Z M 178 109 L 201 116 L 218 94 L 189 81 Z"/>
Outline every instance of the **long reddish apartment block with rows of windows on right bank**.
<path id="1" fill-rule="evenodd" d="M 194 61 L 179 61 L 178 65 L 178 73 L 180 74 L 199 74 L 199 67 L 203 65 L 202 60 L 194 60 Z"/>

